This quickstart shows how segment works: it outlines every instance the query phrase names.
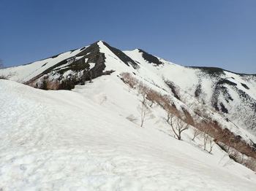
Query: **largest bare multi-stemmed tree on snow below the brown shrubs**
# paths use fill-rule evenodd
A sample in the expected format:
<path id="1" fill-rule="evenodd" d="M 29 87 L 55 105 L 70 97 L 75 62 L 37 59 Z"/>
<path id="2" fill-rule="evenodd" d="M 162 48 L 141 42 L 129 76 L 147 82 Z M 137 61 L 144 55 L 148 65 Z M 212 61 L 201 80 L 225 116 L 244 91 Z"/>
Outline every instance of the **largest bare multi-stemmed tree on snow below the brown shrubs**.
<path id="1" fill-rule="evenodd" d="M 173 133 L 178 140 L 181 140 L 181 133 L 189 128 L 189 125 L 186 122 L 182 121 L 171 112 L 167 112 L 167 123 L 172 128 Z"/>

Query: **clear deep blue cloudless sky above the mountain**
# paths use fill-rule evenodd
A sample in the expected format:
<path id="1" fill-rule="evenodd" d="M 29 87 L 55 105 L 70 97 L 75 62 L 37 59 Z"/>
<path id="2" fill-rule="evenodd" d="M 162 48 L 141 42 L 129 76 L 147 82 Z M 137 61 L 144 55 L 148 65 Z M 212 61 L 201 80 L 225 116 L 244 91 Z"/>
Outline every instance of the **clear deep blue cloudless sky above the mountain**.
<path id="1" fill-rule="evenodd" d="M 256 74 L 256 0 L 1 0 L 0 24 L 5 66 L 101 39 L 184 66 Z"/>

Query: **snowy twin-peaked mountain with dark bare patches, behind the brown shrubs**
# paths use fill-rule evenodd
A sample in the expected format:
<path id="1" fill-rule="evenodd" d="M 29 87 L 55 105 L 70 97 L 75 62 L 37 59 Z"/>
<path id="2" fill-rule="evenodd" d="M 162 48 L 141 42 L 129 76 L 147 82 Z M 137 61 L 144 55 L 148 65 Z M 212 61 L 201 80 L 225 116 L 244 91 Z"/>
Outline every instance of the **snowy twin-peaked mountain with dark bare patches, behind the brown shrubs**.
<path id="1" fill-rule="evenodd" d="M 233 124 L 233 128 L 227 128 L 238 131 L 239 136 L 255 139 L 255 75 L 178 66 L 140 49 L 121 51 L 106 42 L 95 42 L 26 66 L 2 69 L 0 75 L 41 89 L 71 90 L 102 75 L 121 72 L 136 74 L 189 109 L 207 107 Z"/>

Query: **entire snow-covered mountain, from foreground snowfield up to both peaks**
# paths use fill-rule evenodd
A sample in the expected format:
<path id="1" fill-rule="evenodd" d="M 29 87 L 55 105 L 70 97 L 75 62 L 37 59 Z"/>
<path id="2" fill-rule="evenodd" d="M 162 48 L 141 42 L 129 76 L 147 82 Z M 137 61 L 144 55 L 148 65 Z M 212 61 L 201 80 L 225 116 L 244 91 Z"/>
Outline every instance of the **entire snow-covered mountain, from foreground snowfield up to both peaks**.
<path id="1" fill-rule="evenodd" d="M 10 79 L 0 79 L 0 190 L 256 187 L 255 174 L 228 157 L 236 160 L 236 150 L 239 163 L 255 161 L 256 75 L 179 66 L 99 41 L 1 69 L 0 78 Z M 184 141 L 173 139 L 165 104 L 149 92 L 190 125 Z M 144 98 L 151 104 L 139 128 Z M 205 137 L 192 141 L 206 127 L 218 145 L 212 155 L 202 149 Z"/>

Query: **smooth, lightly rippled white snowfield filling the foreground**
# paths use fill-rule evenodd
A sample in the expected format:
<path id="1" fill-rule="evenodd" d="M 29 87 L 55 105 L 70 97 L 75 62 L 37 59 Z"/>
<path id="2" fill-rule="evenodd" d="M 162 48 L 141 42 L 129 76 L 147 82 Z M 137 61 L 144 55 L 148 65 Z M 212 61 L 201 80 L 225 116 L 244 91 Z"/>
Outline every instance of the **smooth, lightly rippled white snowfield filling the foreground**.
<path id="1" fill-rule="evenodd" d="M 255 173 L 224 163 L 221 149 L 173 139 L 156 117 L 147 128 L 127 120 L 118 106 L 140 101 L 120 87 L 113 77 L 75 91 L 0 79 L 0 190 L 255 190 Z"/>

